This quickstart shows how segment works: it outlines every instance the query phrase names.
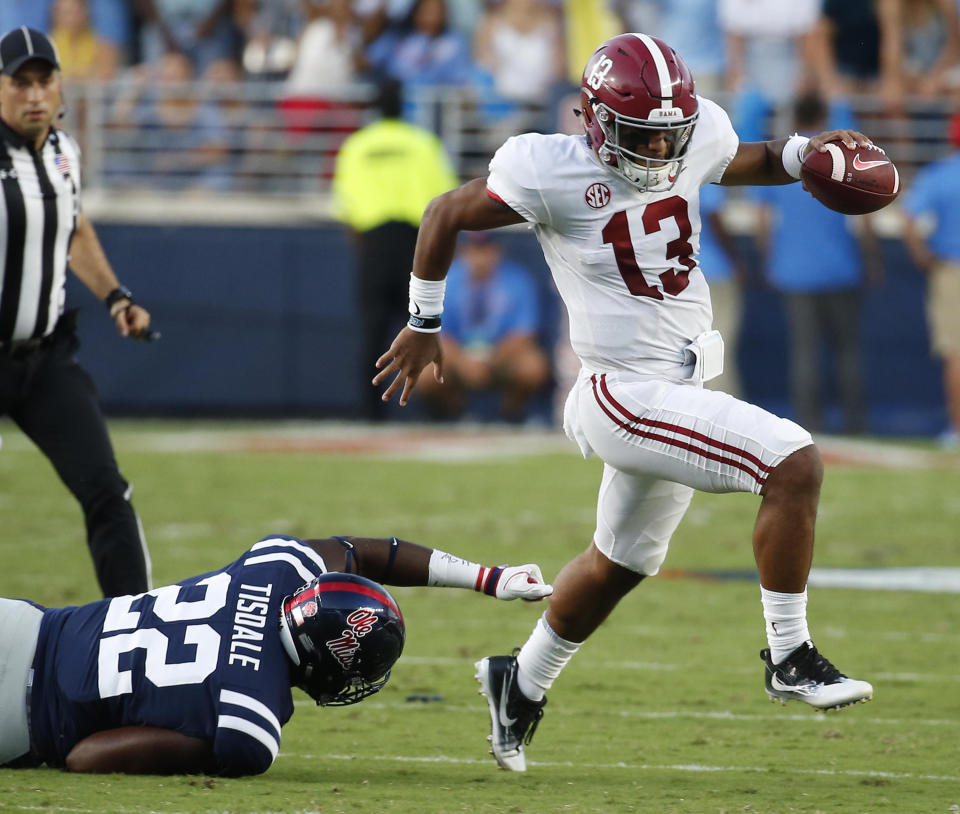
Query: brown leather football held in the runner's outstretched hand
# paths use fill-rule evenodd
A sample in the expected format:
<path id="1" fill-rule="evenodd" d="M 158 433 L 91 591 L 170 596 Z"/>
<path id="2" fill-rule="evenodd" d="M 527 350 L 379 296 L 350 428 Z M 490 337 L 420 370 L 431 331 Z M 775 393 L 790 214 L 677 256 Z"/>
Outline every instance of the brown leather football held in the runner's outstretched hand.
<path id="1" fill-rule="evenodd" d="M 829 209 L 865 215 L 889 204 L 900 192 L 900 174 L 879 147 L 831 141 L 824 153 L 811 150 L 800 165 L 803 188 Z"/>

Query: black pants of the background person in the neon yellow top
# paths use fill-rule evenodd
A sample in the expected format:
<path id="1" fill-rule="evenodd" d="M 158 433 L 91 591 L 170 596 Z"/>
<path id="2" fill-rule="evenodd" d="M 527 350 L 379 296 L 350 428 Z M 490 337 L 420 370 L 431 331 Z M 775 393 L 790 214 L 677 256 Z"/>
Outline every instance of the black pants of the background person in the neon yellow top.
<path id="1" fill-rule="evenodd" d="M 360 319 L 363 349 L 360 370 L 365 417 L 381 421 L 387 405 L 380 396 L 386 385 L 375 388 L 370 379 L 377 359 L 390 347 L 407 321 L 407 302 L 417 227 L 390 221 L 359 235 Z"/>

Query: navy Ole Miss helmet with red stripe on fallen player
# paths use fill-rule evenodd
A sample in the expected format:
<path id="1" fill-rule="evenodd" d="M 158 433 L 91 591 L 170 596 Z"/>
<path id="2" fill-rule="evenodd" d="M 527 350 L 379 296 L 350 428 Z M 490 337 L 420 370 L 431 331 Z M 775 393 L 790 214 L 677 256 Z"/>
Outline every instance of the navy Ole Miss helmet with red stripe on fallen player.
<path id="1" fill-rule="evenodd" d="M 355 704 L 387 683 L 406 633 L 382 585 L 357 574 L 323 574 L 280 607 L 293 683 L 317 704 Z"/>

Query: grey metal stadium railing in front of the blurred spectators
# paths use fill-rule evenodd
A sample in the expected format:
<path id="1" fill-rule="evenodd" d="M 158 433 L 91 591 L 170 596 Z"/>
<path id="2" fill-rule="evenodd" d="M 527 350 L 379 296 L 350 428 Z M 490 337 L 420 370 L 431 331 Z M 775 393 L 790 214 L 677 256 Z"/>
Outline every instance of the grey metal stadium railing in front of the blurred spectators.
<path id="1" fill-rule="evenodd" d="M 115 221 L 327 220 L 337 151 L 373 118 L 368 84 L 322 100 L 292 97 L 282 82 L 253 81 L 124 79 L 73 83 L 66 93 L 64 124 L 84 150 L 85 203 Z M 418 87 L 408 93 L 405 116 L 440 136 L 467 180 L 486 171 L 493 151 L 513 133 L 576 127 L 565 115 L 575 100 L 558 95 L 541 109 L 519 109 L 462 89 Z M 876 97 L 849 101 L 861 129 L 887 149 L 905 183 L 950 149 L 948 101 L 911 99 L 899 115 L 885 112 Z M 771 117 L 771 135 L 782 129 L 782 118 Z M 737 221 L 735 212 L 736 205 Z M 895 220 L 893 208 L 890 228 Z"/>

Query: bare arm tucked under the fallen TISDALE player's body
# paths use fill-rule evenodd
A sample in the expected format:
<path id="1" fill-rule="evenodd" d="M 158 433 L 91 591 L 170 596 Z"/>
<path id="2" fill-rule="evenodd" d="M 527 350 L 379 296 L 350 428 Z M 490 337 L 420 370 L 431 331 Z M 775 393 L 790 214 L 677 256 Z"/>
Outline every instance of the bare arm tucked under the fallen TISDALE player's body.
<path id="1" fill-rule="evenodd" d="M 212 774 L 213 746 L 170 729 L 128 726 L 96 732 L 67 755 L 67 769 L 86 774 Z"/>

